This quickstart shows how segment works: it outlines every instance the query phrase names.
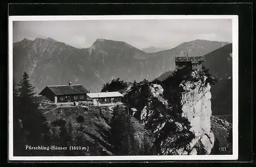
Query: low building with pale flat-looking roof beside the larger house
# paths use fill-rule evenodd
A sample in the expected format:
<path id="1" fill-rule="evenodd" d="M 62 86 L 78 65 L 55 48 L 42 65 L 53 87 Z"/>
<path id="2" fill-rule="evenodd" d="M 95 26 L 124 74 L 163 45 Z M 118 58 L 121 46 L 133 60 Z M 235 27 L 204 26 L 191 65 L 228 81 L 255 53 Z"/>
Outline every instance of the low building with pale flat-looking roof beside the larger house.
<path id="1" fill-rule="evenodd" d="M 87 93 L 87 96 L 93 99 L 94 105 L 119 104 L 123 97 L 118 91 Z"/>

